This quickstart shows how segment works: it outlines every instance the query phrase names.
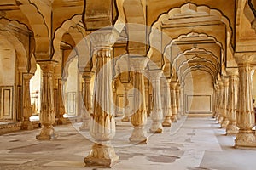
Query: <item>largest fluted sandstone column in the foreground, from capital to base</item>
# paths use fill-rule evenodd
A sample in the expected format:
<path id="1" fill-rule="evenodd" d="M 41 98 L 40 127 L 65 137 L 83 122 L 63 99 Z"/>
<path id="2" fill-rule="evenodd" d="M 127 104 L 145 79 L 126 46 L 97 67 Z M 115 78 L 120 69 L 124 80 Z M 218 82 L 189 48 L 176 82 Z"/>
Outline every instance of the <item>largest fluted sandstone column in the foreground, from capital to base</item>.
<path id="1" fill-rule="evenodd" d="M 96 56 L 96 75 L 90 135 L 95 141 L 89 156 L 84 158 L 88 167 L 112 167 L 119 160 L 110 142 L 115 135 L 111 60 L 115 42 L 113 33 L 113 30 L 101 30 L 91 35 L 93 54 Z"/>

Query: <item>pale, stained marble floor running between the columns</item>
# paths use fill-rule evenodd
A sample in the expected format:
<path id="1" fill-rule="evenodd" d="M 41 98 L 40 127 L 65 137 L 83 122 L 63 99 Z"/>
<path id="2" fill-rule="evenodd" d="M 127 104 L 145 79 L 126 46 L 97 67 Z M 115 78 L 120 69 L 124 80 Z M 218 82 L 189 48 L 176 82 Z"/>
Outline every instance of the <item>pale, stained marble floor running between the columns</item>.
<path id="1" fill-rule="evenodd" d="M 256 150 L 234 149 L 234 137 L 225 136 L 211 117 L 185 117 L 165 127 L 164 133 L 148 132 L 148 144 L 130 144 L 131 123 L 116 120 L 113 139 L 119 162 L 112 169 L 172 170 L 252 170 L 256 168 Z M 146 129 L 150 127 L 150 118 Z M 84 167 L 92 145 L 88 132 L 79 132 L 81 123 L 55 127 L 58 138 L 35 139 L 39 129 L 0 136 L 1 170 L 79 170 Z"/>

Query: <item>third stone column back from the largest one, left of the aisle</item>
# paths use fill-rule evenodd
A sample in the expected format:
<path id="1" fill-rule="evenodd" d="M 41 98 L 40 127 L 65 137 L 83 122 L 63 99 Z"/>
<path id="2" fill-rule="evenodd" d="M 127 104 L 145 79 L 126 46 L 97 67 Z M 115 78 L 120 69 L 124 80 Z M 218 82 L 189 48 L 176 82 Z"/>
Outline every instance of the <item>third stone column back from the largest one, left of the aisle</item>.
<path id="1" fill-rule="evenodd" d="M 149 71 L 150 80 L 152 82 L 153 88 L 153 110 L 151 112 L 152 125 L 150 127 L 150 132 L 152 133 L 162 133 L 162 105 L 161 105 L 161 94 L 160 94 L 160 77 L 162 75 L 161 70 Z"/>

